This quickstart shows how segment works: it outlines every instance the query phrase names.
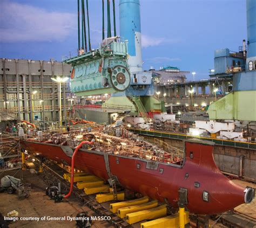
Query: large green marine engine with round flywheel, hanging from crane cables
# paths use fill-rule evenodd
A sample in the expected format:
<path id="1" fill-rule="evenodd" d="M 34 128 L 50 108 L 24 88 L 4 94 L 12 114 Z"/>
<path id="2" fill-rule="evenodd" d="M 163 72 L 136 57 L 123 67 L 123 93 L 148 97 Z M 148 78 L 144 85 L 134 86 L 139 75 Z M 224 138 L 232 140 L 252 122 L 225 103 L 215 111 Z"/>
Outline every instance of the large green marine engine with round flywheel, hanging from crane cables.
<path id="1" fill-rule="evenodd" d="M 71 91 L 89 96 L 124 91 L 130 85 L 127 43 L 118 37 L 103 40 L 99 49 L 64 60 L 72 65 Z"/>

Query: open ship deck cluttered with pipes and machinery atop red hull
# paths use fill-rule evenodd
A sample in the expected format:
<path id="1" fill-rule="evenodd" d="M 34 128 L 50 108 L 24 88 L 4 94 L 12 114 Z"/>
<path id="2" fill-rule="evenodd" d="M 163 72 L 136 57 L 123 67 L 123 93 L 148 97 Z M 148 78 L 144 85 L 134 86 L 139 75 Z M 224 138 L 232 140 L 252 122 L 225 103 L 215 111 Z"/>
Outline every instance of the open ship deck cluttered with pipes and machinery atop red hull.
<path id="1" fill-rule="evenodd" d="M 127 157 L 138 157 L 144 160 L 168 164 L 181 165 L 184 161 L 185 153 L 183 150 L 172 147 L 158 139 L 155 139 L 154 143 L 147 142 L 143 137 L 129 132 L 124 127 L 114 129 L 119 130 L 118 136 L 111 135 L 113 128 L 107 130 L 103 128 L 92 129 L 93 128 L 89 131 L 86 128 L 81 128 L 62 133 L 43 132 L 36 137 L 26 135 L 25 139 L 28 141 L 52 143 L 71 148 L 75 148 L 78 146 L 79 142 L 84 140 L 93 140 L 94 144 L 92 147 L 86 145 L 83 149 L 97 150 Z"/>

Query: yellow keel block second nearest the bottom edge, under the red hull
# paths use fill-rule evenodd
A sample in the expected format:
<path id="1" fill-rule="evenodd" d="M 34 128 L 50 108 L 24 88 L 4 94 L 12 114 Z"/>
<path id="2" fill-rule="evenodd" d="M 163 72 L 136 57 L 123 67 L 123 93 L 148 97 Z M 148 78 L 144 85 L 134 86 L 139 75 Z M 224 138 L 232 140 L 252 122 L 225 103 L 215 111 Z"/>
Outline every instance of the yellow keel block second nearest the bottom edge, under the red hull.
<path id="1" fill-rule="evenodd" d="M 166 216 L 166 213 L 167 213 L 166 206 L 167 205 L 164 204 L 161 206 L 157 206 L 156 208 L 129 213 L 126 215 L 127 223 L 134 224 L 144 219 L 156 219 L 156 218 Z"/>

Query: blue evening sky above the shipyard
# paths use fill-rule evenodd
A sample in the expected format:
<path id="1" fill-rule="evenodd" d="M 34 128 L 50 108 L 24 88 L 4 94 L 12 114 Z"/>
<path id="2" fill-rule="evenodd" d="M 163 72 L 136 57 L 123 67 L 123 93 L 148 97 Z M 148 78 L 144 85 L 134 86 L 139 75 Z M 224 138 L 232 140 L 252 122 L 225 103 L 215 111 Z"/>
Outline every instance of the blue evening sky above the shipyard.
<path id="1" fill-rule="evenodd" d="M 102 37 L 101 2 L 89 0 L 94 48 Z M 237 51 L 247 38 L 245 0 L 140 2 L 145 70 L 171 65 L 207 78 L 214 50 Z M 0 58 L 62 60 L 76 49 L 77 0 L 0 0 Z"/>

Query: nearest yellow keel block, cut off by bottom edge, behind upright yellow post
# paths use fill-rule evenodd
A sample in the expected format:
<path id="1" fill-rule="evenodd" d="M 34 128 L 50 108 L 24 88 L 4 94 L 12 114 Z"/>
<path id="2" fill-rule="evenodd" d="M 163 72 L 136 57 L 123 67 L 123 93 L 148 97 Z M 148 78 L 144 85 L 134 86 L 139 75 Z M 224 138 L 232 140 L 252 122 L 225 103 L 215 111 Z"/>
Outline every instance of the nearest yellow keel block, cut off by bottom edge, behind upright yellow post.
<path id="1" fill-rule="evenodd" d="M 186 214 L 185 224 L 187 224 L 190 222 L 190 219 L 188 218 L 189 213 L 186 211 L 185 214 Z M 140 224 L 140 228 L 158 228 L 158 227 L 179 228 L 180 227 L 179 213 Z"/>

